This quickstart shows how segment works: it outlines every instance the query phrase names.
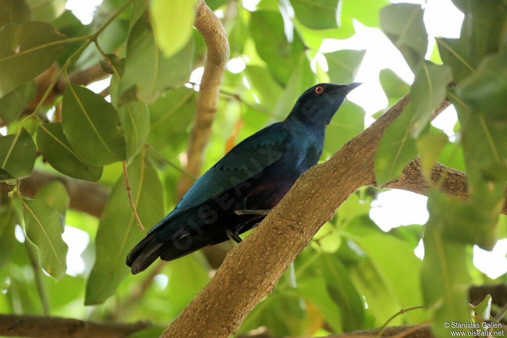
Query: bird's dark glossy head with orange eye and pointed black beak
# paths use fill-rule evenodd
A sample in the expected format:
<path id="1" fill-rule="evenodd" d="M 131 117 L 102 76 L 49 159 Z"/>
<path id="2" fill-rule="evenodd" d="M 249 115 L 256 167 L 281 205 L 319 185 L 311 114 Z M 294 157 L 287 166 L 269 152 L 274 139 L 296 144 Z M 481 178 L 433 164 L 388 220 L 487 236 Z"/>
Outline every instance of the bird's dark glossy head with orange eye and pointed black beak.
<path id="1" fill-rule="evenodd" d="M 327 125 L 335 115 L 345 96 L 360 83 L 335 85 L 321 83 L 309 88 L 296 101 L 287 121 L 300 121 L 310 125 Z"/>

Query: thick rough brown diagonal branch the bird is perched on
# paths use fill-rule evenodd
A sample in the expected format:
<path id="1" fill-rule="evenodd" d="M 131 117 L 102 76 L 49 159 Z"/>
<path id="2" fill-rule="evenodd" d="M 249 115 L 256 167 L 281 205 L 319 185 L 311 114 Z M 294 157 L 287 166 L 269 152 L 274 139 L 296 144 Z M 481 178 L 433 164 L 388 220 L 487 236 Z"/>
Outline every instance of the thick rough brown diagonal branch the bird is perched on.
<path id="1" fill-rule="evenodd" d="M 361 186 L 376 184 L 374 159 L 378 142 L 408 101 L 406 95 L 331 159 L 305 172 L 256 231 L 227 255 L 210 282 L 162 337 L 204 337 L 210 334 L 228 337 L 234 333 L 348 196 Z M 448 102 L 442 104 L 437 113 L 448 105 Z M 420 170 L 408 168 L 402 175 L 405 180 L 398 180 L 397 189 L 421 192 L 410 180 L 415 179 L 421 184 Z M 460 185 L 457 189 L 448 186 L 448 190 L 462 192 L 461 184 L 466 182 L 466 177 L 459 172 L 454 174 L 453 178 Z M 425 183 L 423 186 L 427 189 Z"/>

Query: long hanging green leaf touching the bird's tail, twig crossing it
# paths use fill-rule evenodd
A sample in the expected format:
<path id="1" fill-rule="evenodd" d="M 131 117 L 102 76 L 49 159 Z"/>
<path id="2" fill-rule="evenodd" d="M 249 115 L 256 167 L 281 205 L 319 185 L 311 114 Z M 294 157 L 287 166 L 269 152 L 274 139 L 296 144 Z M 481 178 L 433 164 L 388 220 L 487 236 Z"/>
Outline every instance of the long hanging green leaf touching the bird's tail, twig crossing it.
<path id="1" fill-rule="evenodd" d="M 162 184 L 157 171 L 141 152 L 127 168 L 132 198 L 139 218 L 151 228 L 164 213 Z M 145 234 L 139 231 L 125 190 L 123 176 L 116 182 L 100 220 L 95 265 L 86 285 L 85 305 L 103 303 L 130 274 L 125 257 Z"/>

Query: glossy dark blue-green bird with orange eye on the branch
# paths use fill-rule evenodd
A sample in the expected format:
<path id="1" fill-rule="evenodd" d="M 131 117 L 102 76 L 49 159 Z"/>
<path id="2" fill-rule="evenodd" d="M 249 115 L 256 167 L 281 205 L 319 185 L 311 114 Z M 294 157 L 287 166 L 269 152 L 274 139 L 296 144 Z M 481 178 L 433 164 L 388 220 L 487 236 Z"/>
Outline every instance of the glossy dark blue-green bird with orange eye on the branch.
<path id="1" fill-rule="evenodd" d="M 207 245 L 241 242 L 239 235 L 260 223 L 298 177 L 317 164 L 326 126 L 359 85 L 315 85 L 297 99 L 284 121 L 234 146 L 130 251 L 126 264 L 132 274 L 159 257 L 169 261 Z"/>

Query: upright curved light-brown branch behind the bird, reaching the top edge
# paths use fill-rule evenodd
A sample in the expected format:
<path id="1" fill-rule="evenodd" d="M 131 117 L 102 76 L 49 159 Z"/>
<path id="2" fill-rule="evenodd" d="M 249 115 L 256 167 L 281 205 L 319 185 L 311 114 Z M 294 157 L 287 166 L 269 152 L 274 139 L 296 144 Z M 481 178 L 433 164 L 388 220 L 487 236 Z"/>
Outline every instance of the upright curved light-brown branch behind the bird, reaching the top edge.
<path id="1" fill-rule="evenodd" d="M 222 22 L 209 9 L 204 0 L 197 4 L 195 27 L 204 37 L 208 48 L 206 65 L 201 80 L 194 127 L 187 149 L 187 171 L 199 176 L 203 162 L 203 152 L 211 134 L 211 125 L 218 106 L 220 85 L 225 66 L 229 59 L 229 41 Z M 194 182 L 182 176 L 178 195 L 182 197 Z"/>

